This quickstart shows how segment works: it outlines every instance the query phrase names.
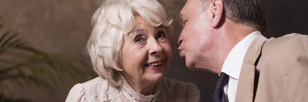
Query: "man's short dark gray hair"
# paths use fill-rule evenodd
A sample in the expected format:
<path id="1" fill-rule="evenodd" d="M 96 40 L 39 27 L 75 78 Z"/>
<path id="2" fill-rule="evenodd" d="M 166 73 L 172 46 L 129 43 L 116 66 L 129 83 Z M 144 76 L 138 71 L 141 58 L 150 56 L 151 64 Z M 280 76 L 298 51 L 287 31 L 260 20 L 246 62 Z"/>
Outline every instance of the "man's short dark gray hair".
<path id="1" fill-rule="evenodd" d="M 222 0 L 225 15 L 236 23 L 257 28 L 261 33 L 266 28 L 265 14 L 259 0 Z M 201 0 L 200 11 L 207 9 L 213 0 Z"/>

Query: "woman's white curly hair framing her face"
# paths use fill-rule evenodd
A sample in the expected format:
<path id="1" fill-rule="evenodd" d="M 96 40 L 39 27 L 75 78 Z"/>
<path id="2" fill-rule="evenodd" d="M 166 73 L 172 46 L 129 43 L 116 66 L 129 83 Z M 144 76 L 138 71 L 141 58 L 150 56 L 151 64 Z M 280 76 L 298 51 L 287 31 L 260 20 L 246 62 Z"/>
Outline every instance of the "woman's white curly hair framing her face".
<path id="1" fill-rule="evenodd" d="M 92 67 L 111 86 L 120 86 L 121 48 L 123 35 L 135 27 L 134 15 L 149 25 L 164 25 L 171 38 L 171 22 L 156 0 L 106 0 L 92 17 L 92 33 L 87 43 Z"/>

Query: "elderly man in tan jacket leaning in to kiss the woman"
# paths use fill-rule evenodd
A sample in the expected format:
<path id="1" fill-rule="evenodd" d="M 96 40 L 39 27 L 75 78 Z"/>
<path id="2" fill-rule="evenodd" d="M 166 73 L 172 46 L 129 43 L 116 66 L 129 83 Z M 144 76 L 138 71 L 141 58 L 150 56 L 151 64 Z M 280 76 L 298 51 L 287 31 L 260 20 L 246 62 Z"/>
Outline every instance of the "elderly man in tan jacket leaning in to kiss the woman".
<path id="1" fill-rule="evenodd" d="M 180 57 L 219 74 L 213 101 L 308 101 L 308 36 L 265 38 L 259 0 L 188 0 Z"/>

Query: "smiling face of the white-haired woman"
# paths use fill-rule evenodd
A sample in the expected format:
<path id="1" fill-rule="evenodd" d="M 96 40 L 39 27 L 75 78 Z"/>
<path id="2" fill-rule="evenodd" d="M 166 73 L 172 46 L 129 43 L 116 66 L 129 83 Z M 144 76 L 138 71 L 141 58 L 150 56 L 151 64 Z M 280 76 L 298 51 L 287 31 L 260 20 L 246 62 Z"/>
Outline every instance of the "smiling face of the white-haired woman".
<path id="1" fill-rule="evenodd" d="M 167 73 L 172 57 L 165 27 L 152 27 L 140 15 L 136 27 L 123 36 L 121 74 L 128 82 L 153 84 Z"/>

